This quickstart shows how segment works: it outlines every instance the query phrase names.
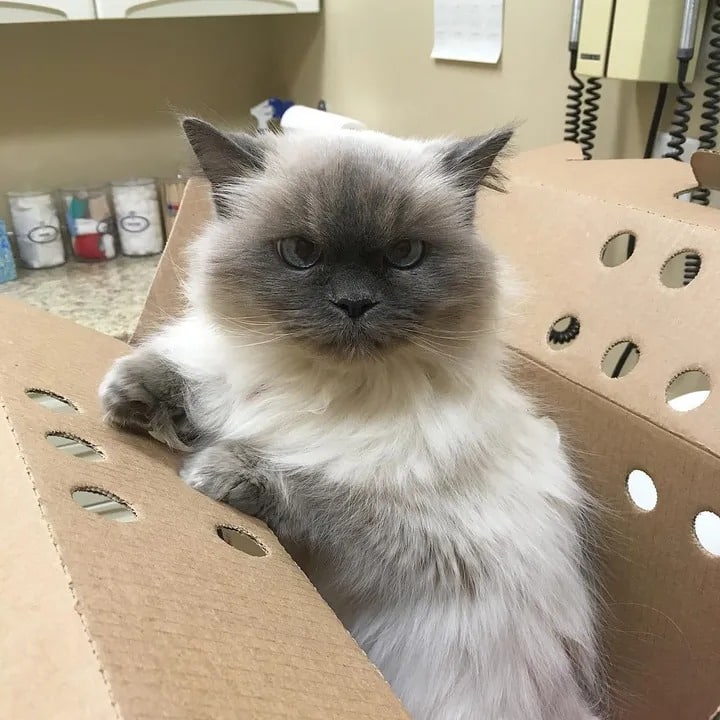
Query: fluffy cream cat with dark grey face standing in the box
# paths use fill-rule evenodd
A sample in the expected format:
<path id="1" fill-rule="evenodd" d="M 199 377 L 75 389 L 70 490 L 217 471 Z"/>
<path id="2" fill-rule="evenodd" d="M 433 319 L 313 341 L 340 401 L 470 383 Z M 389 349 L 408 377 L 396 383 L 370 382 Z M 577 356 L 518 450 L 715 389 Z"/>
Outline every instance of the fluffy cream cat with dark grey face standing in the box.
<path id="1" fill-rule="evenodd" d="M 414 720 L 590 720 L 590 504 L 509 379 L 474 227 L 511 131 L 184 128 L 216 217 L 185 316 L 105 378 L 108 420 L 267 522 Z"/>

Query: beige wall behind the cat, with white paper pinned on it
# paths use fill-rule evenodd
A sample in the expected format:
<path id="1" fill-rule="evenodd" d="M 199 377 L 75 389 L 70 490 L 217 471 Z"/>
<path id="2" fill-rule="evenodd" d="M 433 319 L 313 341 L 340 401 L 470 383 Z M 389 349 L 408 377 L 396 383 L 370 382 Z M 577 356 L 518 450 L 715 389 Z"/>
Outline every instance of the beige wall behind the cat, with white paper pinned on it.
<path id="1" fill-rule="evenodd" d="M 0 25 L 0 216 L 8 189 L 173 173 L 173 110 L 242 126 L 270 94 L 397 134 L 522 122 L 562 138 L 569 0 L 505 3 L 497 66 L 435 61 L 432 0 L 324 0 L 321 15 Z M 655 87 L 606 81 L 596 157 L 638 155 Z M 699 116 L 699 109 L 697 111 Z"/>

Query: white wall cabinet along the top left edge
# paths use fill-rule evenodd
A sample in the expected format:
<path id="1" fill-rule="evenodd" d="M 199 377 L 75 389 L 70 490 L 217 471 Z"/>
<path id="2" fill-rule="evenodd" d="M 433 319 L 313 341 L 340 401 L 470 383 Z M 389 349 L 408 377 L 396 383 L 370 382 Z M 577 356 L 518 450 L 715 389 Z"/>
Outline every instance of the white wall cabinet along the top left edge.
<path id="1" fill-rule="evenodd" d="M 317 12 L 320 0 L 0 0 L 0 23 Z"/>

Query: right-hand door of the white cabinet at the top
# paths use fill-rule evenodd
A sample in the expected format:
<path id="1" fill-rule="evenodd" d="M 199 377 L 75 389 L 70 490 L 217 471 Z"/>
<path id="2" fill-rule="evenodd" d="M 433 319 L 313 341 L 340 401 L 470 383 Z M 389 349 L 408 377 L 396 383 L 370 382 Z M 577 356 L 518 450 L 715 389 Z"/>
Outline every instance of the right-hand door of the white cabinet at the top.
<path id="1" fill-rule="evenodd" d="M 320 0 L 95 0 L 100 18 L 316 13 Z"/>

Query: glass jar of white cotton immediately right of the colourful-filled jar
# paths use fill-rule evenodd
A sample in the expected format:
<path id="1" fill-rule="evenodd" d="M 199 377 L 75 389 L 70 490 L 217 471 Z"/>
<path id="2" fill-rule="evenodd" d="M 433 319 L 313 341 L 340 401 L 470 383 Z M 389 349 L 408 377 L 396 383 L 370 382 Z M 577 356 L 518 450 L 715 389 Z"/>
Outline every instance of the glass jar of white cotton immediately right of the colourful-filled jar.
<path id="1" fill-rule="evenodd" d="M 157 255 L 165 244 L 157 185 L 151 178 L 112 183 L 123 255 Z"/>

